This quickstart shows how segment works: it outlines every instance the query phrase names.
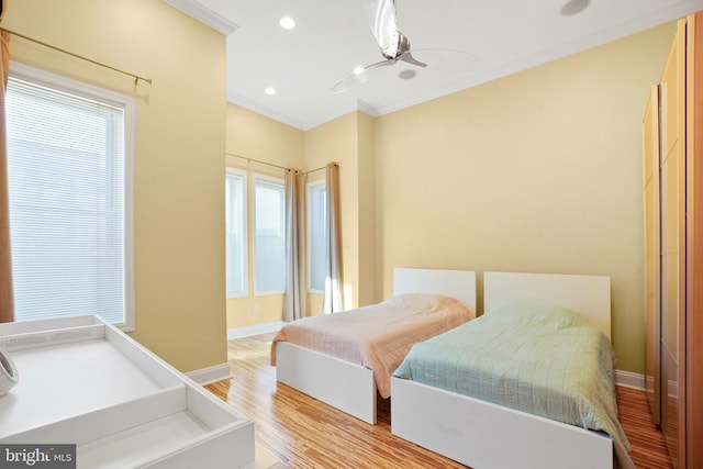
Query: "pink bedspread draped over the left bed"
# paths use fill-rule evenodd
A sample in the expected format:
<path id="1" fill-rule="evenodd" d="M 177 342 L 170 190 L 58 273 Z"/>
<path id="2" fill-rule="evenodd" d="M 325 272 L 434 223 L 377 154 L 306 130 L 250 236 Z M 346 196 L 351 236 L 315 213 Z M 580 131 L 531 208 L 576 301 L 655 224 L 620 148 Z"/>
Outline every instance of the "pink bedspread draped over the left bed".
<path id="1" fill-rule="evenodd" d="M 476 317 L 450 297 L 406 293 L 382 303 L 342 313 L 304 317 L 283 326 L 271 344 L 290 342 L 369 368 L 379 394 L 391 394 L 391 373 L 413 344 L 426 340 Z"/>

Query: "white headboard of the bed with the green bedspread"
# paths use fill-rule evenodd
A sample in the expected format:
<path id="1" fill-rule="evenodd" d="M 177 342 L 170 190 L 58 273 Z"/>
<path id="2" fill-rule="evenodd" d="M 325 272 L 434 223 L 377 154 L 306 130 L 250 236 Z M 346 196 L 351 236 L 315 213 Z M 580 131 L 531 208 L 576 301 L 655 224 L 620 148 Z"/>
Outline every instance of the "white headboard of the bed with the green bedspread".
<path id="1" fill-rule="evenodd" d="M 611 338 L 611 278 L 560 273 L 483 272 L 483 311 L 505 304 L 567 308 Z"/>

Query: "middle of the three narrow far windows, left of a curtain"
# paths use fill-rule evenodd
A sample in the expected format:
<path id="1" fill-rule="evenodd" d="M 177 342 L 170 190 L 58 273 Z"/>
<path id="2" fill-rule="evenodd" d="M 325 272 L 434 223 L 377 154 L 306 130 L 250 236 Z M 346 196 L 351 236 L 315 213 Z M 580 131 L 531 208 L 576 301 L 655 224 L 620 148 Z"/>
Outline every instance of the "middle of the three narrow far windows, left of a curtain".
<path id="1" fill-rule="evenodd" d="M 286 290 L 286 185 L 282 179 L 254 178 L 255 292 Z"/>

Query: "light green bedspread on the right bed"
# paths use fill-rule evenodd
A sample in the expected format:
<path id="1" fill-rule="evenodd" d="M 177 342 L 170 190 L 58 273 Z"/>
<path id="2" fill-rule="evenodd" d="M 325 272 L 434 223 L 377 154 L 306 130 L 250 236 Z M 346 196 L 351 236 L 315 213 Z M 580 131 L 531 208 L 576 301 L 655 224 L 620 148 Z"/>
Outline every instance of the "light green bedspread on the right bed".
<path id="1" fill-rule="evenodd" d="M 566 309 L 499 308 L 415 344 L 393 376 L 602 431 L 634 468 L 617 421 L 607 337 Z"/>

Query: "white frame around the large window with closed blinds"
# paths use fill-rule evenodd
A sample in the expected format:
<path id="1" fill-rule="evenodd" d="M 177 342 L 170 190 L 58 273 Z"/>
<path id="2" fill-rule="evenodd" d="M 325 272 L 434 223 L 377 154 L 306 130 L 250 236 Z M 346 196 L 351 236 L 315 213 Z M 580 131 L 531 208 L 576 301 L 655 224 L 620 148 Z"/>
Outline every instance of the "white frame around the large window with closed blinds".
<path id="1" fill-rule="evenodd" d="M 134 98 L 104 88 L 99 88 L 65 76 L 10 62 L 9 75 L 58 92 L 114 105 L 124 111 L 124 321 L 113 323 L 124 332 L 135 330 L 134 308 L 134 158 L 136 133 L 136 104 Z"/>

